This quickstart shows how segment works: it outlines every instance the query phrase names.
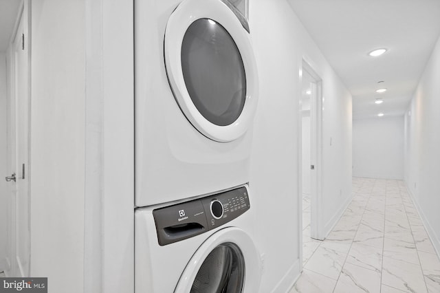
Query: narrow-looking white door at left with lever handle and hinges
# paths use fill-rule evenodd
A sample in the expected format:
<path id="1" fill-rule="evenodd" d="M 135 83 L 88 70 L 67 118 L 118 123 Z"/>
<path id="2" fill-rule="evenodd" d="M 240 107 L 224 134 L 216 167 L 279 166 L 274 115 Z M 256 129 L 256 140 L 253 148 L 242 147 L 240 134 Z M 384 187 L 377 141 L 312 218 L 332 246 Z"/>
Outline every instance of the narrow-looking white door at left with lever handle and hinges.
<path id="1" fill-rule="evenodd" d="M 10 228 L 8 276 L 28 276 L 30 270 L 29 226 L 29 85 L 28 43 L 25 17 L 22 13 L 9 50 L 10 107 L 8 149 L 10 173 Z"/>

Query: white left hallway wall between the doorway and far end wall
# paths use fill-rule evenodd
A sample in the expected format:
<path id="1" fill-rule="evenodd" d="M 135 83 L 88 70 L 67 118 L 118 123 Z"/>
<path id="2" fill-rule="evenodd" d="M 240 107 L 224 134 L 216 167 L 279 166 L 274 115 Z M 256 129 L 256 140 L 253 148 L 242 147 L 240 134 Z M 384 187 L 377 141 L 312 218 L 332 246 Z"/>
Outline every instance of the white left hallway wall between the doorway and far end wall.
<path id="1" fill-rule="evenodd" d="M 325 235 L 351 201 L 351 94 L 328 63 L 320 61 L 322 78 L 322 222 Z M 319 166 L 317 167 L 319 168 Z M 312 212 L 313 213 L 313 212 Z"/>

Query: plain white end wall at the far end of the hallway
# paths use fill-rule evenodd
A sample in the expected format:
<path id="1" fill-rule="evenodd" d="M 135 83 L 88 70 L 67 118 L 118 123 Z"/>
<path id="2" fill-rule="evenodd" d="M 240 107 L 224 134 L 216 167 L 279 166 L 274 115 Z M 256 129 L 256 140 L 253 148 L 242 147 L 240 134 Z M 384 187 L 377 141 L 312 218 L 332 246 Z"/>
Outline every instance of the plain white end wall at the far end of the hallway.
<path id="1" fill-rule="evenodd" d="M 404 179 L 404 117 L 353 120 L 353 176 Z"/>

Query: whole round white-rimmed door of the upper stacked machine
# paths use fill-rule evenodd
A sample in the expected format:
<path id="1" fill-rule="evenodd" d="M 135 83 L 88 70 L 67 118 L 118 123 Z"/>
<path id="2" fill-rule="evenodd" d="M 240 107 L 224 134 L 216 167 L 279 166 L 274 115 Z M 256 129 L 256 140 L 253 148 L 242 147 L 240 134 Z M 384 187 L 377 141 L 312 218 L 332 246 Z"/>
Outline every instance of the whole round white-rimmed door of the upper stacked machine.
<path id="1" fill-rule="evenodd" d="M 175 99 L 200 133 L 217 142 L 245 133 L 258 76 L 248 31 L 223 1 L 182 1 L 168 19 L 164 55 Z"/>

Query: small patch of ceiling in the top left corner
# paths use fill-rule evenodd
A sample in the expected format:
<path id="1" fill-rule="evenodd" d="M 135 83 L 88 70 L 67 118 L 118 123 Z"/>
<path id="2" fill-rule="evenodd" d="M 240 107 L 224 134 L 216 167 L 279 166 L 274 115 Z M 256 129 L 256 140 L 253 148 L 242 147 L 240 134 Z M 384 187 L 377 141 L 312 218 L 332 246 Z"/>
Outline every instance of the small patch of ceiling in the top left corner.
<path id="1" fill-rule="evenodd" d="M 19 0 L 0 0 L 0 52 L 8 49 L 20 2 Z"/>

